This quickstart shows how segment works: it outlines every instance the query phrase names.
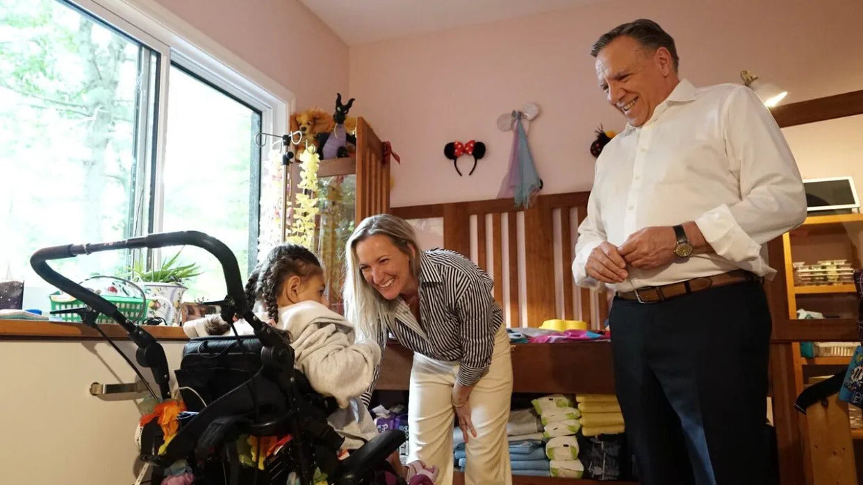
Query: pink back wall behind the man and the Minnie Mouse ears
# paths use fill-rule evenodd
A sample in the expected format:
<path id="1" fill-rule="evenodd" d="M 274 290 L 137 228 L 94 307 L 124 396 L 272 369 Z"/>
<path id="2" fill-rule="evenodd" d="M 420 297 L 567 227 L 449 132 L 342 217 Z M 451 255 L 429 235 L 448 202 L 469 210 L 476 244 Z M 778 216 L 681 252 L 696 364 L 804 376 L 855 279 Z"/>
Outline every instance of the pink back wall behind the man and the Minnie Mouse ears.
<path id="1" fill-rule="evenodd" d="M 739 82 L 749 69 L 789 90 L 787 103 L 863 87 L 860 0 L 612 0 L 352 47 L 354 111 L 402 159 L 393 205 L 496 196 L 512 135 L 495 120 L 530 101 L 542 109 L 530 140 L 543 193 L 589 190 L 594 129 L 624 125 L 596 87 L 589 46 L 640 16 L 675 37 L 681 74 L 696 85 Z M 488 154 L 472 177 L 458 177 L 444 144 L 469 139 Z M 460 159 L 463 171 L 472 162 Z"/>

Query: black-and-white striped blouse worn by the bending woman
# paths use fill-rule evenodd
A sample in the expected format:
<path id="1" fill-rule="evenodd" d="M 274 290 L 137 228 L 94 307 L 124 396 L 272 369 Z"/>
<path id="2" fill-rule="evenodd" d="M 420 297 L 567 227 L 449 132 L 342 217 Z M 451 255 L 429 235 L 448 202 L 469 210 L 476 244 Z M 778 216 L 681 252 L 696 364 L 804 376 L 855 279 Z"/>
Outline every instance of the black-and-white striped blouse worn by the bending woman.
<path id="1" fill-rule="evenodd" d="M 411 308 L 399 298 L 392 319 L 380 326 L 378 345 L 385 349 L 387 333 L 393 333 L 401 345 L 426 357 L 459 361 L 457 382 L 476 384 L 491 364 L 494 334 L 503 322 L 501 307 L 492 295 L 493 286 L 485 271 L 457 252 L 423 252 L 419 262 L 421 321 L 417 322 Z M 375 381 L 362 395 L 366 404 L 380 373 L 378 364 Z"/>

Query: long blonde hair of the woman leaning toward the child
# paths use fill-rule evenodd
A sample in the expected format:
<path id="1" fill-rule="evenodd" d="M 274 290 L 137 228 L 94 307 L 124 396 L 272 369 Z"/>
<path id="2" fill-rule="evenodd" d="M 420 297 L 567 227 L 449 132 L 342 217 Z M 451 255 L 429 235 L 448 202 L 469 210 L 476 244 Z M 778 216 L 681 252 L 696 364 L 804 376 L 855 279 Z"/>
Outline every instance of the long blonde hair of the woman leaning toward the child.
<path id="1" fill-rule="evenodd" d="M 389 323 L 390 312 L 394 308 L 394 302 L 381 296 L 362 277 L 360 262 L 356 258 L 357 243 L 376 234 L 393 241 L 394 246 L 409 258 L 411 273 L 419 277 L 422 256 L 417 236 L 407 221 L 395 215 L 379 214 L 360 222 L 344 246 L 347 271 L 342 292 L 344 316 L 356 326 L 358 339 L 376 339 Z"/>

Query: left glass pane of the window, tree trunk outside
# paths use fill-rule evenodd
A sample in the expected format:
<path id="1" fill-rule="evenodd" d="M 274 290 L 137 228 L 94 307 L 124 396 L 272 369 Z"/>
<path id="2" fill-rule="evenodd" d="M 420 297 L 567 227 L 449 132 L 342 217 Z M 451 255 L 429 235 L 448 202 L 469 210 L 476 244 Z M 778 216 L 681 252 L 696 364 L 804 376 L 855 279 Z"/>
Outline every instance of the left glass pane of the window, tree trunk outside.
<path id="1" fill-rule="evenodd" d="M 0 9 L 0 269 L 29 280 L 42 246 L 140 229 L 159 53 L 66 3 Z M 80 280 L 129 264 L 105 252 L 56 266 Z"/>

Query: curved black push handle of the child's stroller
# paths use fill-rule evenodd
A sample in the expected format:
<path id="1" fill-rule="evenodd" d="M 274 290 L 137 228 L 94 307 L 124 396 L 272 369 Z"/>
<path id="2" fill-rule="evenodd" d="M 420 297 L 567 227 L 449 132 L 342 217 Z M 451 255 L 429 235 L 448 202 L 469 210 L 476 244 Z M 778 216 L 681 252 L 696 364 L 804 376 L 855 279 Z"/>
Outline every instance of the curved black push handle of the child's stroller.
<path id="1" fill-rule="evenodd" d="M 47 283 L 53 284 L 58 289 L 65 291 L 67 294 L 78 298 L 88 307 L 110 317 L 117 321 L 126 333 L 129 334 L 129 339 L 135 342 L 138 347 L 136 352 L 136 360 L 143 367 L 148 367 L 153 371 L 154 380 L 159 384 L 162 398 L 165 399 L 169 395 L 169 375 L 167 358 L 165 351 L 161 345 L 141 327 L 135 326 L 129 322 L 125 315 L 111 302 L 105 300 L 102 296 L 97 295 L 90 289 L 86 289 L 79 283 L 75 283 L 67 277 L 60 275 L 52 269 L 48 264 L 48 260 L 74 258 L 81 254 L 91 254 L 92 252 L 118 251 L 122 249 L 133 248 L 157 248 L 165 246 L 198 246 L 206 252 L 210 252 L 218 259 L 222 265 L 224 272 L 225 285 L 228 289 L 228 296 L 231 303 L 236 308 L 238 314 L 247 317 L 247 321 L 257 332 L 258 327 L 264 326 L 261 322 L 251 320 L 251 308 L 246 302 L 243 282 L 240 277 L 240 268 L 236 263 L 234 254 L 230 252 L 228 246 L 210 235 L 198 231 L 180 231 L 174 233 L 154 233 L 139 238 L 124 239 L 120 241 L 80 244 L 80 245 L 64 245 L 51 246 L 36 251 L 30 257 L 30 265 L 33 266 L 36 274 L 42 277 Z M 257 325 L 255 325 L 257 324 Z"/>

